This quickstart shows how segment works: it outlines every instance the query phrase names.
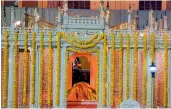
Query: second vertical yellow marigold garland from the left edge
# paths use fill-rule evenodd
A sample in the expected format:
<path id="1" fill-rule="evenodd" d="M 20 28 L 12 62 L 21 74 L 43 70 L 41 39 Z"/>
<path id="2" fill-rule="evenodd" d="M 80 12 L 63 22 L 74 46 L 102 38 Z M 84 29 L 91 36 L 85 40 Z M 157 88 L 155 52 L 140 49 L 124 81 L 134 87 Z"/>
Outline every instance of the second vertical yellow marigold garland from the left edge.
<path id="1" fill-rule="evenodd" d="M 14 73 L 13 73 L 13 108 L 17 108 L 18 91 L 18 33 L 14 34 Z"/>

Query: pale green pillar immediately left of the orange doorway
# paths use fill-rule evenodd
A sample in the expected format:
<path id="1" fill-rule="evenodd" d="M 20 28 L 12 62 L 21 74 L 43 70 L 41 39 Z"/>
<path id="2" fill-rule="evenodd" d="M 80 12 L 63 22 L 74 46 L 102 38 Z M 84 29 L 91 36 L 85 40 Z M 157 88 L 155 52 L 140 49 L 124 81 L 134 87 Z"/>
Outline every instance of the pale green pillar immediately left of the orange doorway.
<path id="1" fill-rule="evenodd" d="M 61 64 L 61 77 L 60 77 L 60 108 L 66 108 L 66 103 L 67 101 L 65 100 L 65 55 L 66 55 L 66 47 L 67 45 L 62 45 L 62 49 L 61 49 L 61 62 L 58 64 Z"/>

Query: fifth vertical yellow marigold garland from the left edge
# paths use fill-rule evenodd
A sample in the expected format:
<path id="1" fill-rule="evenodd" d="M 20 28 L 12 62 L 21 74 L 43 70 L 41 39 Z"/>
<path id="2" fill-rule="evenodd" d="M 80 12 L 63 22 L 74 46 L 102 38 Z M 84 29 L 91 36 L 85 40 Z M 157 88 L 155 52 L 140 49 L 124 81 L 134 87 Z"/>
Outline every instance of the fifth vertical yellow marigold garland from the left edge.
<path id="1" fill-rule="evenodd" d="M 43 84 L 42 84 L 42 74 L 43 74 L 43 38 L 44 38 L 44 33 L 41 32 L 40 33 L 40 92 L 39 92 L 39 104 L 40 106 L 42 106 L 42 88 L 43 88 Z"/>

